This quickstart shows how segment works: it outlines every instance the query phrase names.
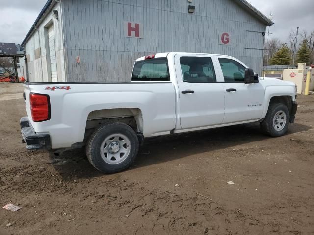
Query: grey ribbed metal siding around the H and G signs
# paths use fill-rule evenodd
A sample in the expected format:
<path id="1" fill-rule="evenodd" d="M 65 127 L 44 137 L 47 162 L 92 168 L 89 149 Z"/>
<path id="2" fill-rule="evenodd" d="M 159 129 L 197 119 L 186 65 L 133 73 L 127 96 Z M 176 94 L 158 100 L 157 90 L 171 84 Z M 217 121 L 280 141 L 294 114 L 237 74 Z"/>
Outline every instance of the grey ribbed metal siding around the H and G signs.
<path id="1" fill-rule="evenodd" d="M 227 54 L 261 72 L 264 37 L 247 30 L 264 32 L 265 25 L 233 0 L 63 0 L 62 6 L 68 81 L 128 81 L 136 58 L 171 51 Z M 144 38 L 124 37 L 125 21 L 143 24 Z M 232 34 L 232 45 L 218 44 L 220 32 Z"/>

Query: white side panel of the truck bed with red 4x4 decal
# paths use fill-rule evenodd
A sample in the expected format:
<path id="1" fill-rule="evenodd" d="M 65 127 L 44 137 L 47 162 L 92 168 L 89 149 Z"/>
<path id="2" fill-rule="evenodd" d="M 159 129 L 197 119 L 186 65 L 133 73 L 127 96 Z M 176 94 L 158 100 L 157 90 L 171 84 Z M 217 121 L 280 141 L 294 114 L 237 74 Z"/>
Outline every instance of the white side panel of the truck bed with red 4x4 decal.
<path id="1" fill-rule="evenodd" d="M 51 136 L 52 148 L 82 142 L 87 118 L 95 110 L 138 110 L 144 127 L 139 131 L 145 137 L 169 134 L 176 126 L 176 96 L 171 82 L 26 82 L 24 86 L 28 117 L 30 93 L 50 97 L 50 120 L 29 119 L 36 133 Z"/>

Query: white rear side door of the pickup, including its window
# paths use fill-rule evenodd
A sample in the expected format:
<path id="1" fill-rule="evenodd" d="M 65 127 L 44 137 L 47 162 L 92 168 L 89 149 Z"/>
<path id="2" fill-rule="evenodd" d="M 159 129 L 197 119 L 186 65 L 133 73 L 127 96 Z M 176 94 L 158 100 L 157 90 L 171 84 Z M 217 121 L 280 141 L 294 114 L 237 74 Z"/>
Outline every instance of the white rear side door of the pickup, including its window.
<path id="1" fill-rule="evenodd" d="M 224 88 L 216 76 L 213 58 L 209 55 L 178 54 L 175 56 L 175 69 L 181 128 L 221 124 L 224 118 Z"/>

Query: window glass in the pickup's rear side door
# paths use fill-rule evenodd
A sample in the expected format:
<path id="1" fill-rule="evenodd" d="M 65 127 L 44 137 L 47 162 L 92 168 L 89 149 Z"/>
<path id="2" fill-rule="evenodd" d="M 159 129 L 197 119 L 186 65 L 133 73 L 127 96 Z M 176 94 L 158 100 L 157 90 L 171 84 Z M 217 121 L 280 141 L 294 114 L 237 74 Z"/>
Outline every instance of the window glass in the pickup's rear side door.
<path id="1" fill-rule="evenodd" d="M 216 82 L 216 74 L 209 57 L 180 57 L 183 82 L 211 83 Z"/>

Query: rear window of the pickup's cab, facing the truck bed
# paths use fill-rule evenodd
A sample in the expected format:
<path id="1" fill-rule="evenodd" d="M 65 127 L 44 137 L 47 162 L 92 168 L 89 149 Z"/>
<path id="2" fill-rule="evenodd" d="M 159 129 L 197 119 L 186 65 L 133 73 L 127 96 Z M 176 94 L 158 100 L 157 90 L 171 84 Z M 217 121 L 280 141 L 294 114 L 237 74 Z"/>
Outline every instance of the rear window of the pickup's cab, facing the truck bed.
<path id="1" fill-rule="evenodd" d="M 132 72 L 132 81 L 170 81 L 168 59 L 165 57 L 135 62 Z"/>

